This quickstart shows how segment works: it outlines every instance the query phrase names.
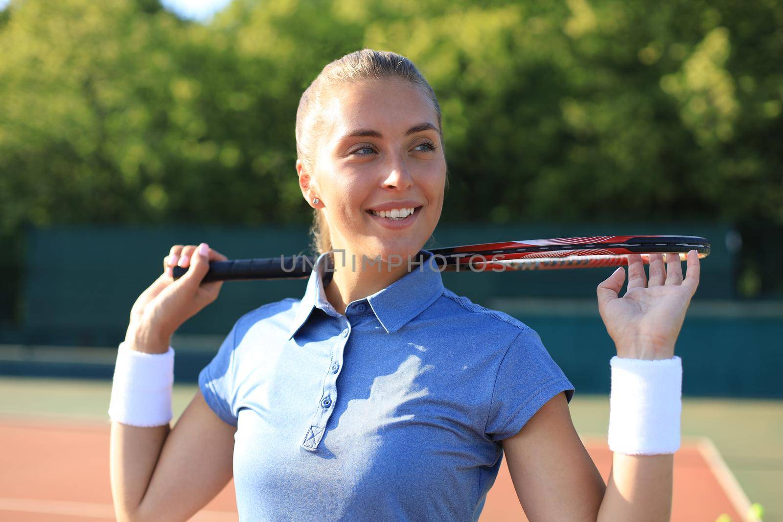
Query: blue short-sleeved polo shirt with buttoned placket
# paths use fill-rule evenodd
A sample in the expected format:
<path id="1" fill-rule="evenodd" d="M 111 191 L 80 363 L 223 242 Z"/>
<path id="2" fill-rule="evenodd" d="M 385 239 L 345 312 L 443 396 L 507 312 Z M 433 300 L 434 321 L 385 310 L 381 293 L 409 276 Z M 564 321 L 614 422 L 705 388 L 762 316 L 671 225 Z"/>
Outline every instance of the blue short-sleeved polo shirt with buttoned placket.
<path id="1" fill-rule="evenodd" d="M 240 520 L 478 520 L 500 441 L 571 400 L 536 331 L 446 289 L 423 252 L 345 315 L 319 256 L 301 300 L 243 315 L 201 370 L 237 427 Z"/>

